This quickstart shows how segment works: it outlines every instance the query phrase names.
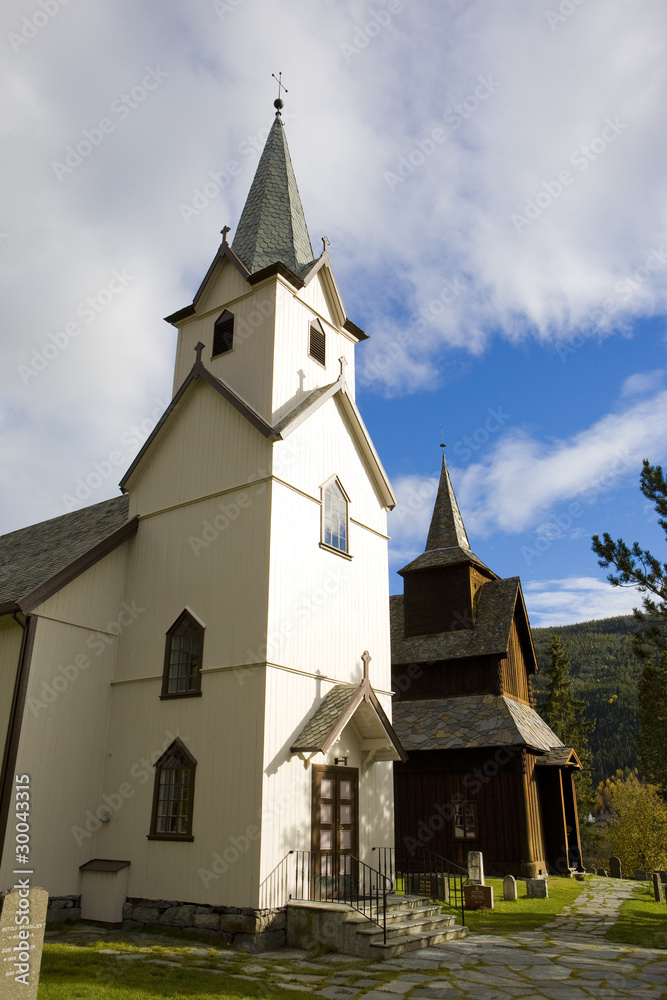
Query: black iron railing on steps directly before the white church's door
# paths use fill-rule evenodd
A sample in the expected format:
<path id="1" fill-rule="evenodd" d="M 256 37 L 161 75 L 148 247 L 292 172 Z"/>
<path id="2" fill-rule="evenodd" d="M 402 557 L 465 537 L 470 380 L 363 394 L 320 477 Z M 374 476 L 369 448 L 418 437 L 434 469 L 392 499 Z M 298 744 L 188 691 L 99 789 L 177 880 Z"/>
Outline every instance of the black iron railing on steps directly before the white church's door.
<path id="1" fill-rule="evenodd" d="M 382 930 L 387 941 L 387 895 L 391 878 L 352 854 L 290 851 L 261 886 L 261 906 L 284 906 L 289 900 L 345 903 Z"/>

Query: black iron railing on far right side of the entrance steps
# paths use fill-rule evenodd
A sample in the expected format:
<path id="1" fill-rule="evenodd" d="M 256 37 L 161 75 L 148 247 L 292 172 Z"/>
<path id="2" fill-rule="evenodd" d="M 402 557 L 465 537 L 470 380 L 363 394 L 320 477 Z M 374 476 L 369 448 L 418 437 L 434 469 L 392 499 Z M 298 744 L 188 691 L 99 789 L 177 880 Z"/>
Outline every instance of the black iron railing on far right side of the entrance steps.
<path id="1" fill-rule="evenodd" d="M 378 871 L 390 879 L 396 892 L 406 896 L 426 896 L 461 913 L 465 926 L 463 886 L 468 881 L 465 868 L 425 847 L 414 852 L 396 853 L 394 847 L 374 847 Z"/>

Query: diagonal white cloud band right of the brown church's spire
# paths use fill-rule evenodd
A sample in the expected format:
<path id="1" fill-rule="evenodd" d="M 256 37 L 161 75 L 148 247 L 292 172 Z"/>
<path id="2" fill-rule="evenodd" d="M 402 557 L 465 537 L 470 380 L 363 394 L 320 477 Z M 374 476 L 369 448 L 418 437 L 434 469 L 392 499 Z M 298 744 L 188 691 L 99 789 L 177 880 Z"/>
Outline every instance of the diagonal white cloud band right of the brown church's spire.
<path id="1" fill-rule="evenodd" d="M 641 459 L 667 454 L 667 392 L 609 413 L 569 440 L 545 443 L 511 430 L 483 461 L 456 476 L 456 490 L 473 536 L 520 532 L 564 500 L 592 503 Z"/>

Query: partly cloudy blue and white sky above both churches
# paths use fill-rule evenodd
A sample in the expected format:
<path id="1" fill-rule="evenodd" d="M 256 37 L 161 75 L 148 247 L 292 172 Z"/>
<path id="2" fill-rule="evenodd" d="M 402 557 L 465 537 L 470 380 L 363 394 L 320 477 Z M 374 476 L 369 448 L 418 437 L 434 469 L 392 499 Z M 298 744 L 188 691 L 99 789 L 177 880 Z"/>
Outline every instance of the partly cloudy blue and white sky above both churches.
<path id="1" fill-rule="evenodd" d="M 0 532 L 97 503 L 171 397 L 175 331 L 283 118 L 357 402 L 423 550 L 446 454 L 534 626 L 629 613 L 591 536 L 664 559 L 661 0 L 5 0 Z M 76 495 L 78 491 L 78 496 Z"/>

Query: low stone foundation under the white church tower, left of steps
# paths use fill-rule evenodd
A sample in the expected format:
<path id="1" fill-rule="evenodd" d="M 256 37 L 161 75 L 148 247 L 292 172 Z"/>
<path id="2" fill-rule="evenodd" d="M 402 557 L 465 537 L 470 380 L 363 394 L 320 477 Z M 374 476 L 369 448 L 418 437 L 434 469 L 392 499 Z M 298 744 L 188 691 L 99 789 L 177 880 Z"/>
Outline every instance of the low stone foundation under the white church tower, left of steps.
<path id="1" fill-rule="evenodd" d="M 125 900 L 123 929 L 155 924 L 181 927 L 211 936 L 239 951 L 255 953 L 280 948 L 286 942 L 285 908 L 252 910 L 237 906 L 208 906 L 165 899 Z"/>

